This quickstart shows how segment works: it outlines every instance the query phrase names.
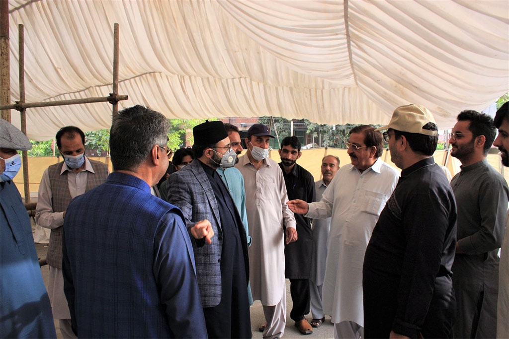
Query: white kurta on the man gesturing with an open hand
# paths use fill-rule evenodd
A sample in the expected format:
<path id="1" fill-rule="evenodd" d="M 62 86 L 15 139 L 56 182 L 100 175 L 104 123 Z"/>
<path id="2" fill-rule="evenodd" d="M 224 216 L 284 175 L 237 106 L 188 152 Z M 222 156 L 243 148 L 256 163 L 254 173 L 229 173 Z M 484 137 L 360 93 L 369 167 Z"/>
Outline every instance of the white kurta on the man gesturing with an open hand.
<path id="1" fill-rule="evenodd" d="M 381 159 L 362 173 L 351 164 L 346 165 L 337 171 L 322 200 L 309 204 L 306 217 L 331 217 L 323 310 L 333 323 L 353 321 L 364 326 L 364 252 L 398 179 L 398 172 Z"/>

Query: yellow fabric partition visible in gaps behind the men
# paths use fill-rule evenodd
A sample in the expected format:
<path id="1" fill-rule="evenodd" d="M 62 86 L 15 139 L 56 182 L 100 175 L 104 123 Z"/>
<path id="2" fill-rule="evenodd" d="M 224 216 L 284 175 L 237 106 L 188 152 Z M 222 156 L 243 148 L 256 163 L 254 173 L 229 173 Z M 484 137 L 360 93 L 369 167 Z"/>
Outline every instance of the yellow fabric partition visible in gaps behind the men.
<path id="1" fill-rule="evenodd" d="M 245 153 L 245 150 L 242 152 L 242 154 Z M 297 160 L 297 163 L 304 167 L 306 170 L 308 170 L 311 174 L 313 174 L 313 177 L 316 180 L 319 180 L 322 178 L 322 173 L 320 172 L 320 167 L 322 165 L 322 158 L 326 155 L 333 155 L 340 158 L 340 167 L 344 166 L 346 164 L 350 164 L 350 157 L 347 154 L 346 149 L 338 149 L 338 148 L 314 148 L 314 149 L 303 149 L 302 150 L 302 157 L 300 157 L 299 160 Z M 281 159 L 279 158 L 279 153 L 277 149 L 273 149 L 269 151 L 269 157 L 276 162 L 280 162 Z M 387 164 L 391 165 L 398 171 L 400 171 L 399 168 L 397 168 L 391 161 L 390 161 L 390 153 L 384 149 L 382 153 L 382 160 L 385 161 Z M 437 150 L 434 154 L 435 162 L 440 165 L 444 165 L 444 161 L 446 159 L 446 151 L 445 150 Z M 101 161 L 108 165 L 109 171 L 112 171 L 111 168 L 111 162 L 109 161 L 109 158 L 100 157 L 100 158 L 90 158 L 97 161 Z M 61 157 L 29 157 L 29 182 L 30 182 L 30 192 L 38 192 L 39 191 L 39 184 L 41 182 L 42 174 L 44 173 L 44 170 L 48 168 L 49 165 L 56 164 L 59 161 L 61 161 Z M 503 167 L 500 165 L 500 156 L 498 154 L 489 154 L 488 155 L 488 162 L 497 170 L 504 175 L 505 179 L 509 179 L 509 170 L 507 167 Z M 447 164 L 445 166 L 449 169 L 451 175 L 455 175 L 460 171 L 460 165 L 461 163 L 458 161 L 458 159 L 453 157 L 448 157 Z M 509 180 L 508 180 L 509 181 Z M 23 192 L 23 169 L 21 169 L 14 178 L 14 182 L 16 183 L 16 186 L 18 187 L 19 192 L 21 193 L 21 196 L 24 196 Z"/>

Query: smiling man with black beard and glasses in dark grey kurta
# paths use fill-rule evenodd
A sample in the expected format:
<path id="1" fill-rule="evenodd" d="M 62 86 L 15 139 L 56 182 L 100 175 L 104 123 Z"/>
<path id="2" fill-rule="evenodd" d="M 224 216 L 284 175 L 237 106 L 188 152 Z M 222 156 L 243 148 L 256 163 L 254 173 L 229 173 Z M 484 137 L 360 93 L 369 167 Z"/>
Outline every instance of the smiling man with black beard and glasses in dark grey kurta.
<path id="1" fill-rule="evenodd" d="M 451 156 L 462 164 L 461 172 L 450 182 L 458 208 L 458 242 L 452 268 L 457 306 L 455 338 L 496 335 L 497 253 L 504 236 L 509 190 L 486 158 L 495 135 L 489 115 L 466 110 L 458 115 L 449 139 Z"/>

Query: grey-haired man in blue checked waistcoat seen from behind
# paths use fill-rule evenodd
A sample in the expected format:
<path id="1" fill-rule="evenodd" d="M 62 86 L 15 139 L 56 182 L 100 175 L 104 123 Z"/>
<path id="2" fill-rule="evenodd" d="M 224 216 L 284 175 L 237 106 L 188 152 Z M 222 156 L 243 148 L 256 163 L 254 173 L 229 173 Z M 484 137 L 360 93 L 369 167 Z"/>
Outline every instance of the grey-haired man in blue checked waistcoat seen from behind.
<path id="1" fill-rule="evenodd" d="M 114 172 L 69 204 L 64 287 L 79 337 L 207 337 L 180 209 L 150 194 L 166 172 L 168 120 L 143 106 L 114 117 Z"/>

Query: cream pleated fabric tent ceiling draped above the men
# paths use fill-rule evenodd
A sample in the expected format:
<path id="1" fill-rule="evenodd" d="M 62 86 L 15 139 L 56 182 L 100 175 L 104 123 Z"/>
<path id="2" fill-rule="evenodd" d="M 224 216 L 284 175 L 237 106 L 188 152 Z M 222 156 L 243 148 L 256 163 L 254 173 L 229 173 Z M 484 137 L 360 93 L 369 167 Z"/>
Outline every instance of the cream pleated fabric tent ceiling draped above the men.
<path id="1" fill-rule="evenodd" d="M 108 96 L 120 24 L 120 107 L 168 118 L 273 115 L 385 124 L 418 103 L 440 129 L 509 88 L 509 2 L 9 0 L 12 102 L 24 25 L 26 102 Z M 12 120 L 19 126 L 19 114 Z M 109 128 L 107 103 L 27 110 L 48 140 Z"/>

